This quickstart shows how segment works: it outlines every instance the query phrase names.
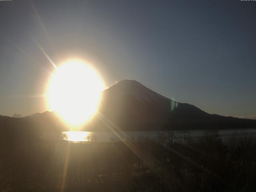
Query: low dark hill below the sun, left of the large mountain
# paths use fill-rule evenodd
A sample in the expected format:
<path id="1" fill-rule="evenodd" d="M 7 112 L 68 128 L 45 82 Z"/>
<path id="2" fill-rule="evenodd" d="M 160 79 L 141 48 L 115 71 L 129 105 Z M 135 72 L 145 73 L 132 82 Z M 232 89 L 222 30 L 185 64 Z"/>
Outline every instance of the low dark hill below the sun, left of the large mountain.
<path id="1" fill-rule="evenodd" d="M 46 132 L 58 138 L 63 128 L 64 124 L 54 112 L 46 111 L 22 118 L 0 116 L 0 143 L 8 146 L 24 144 L 42 138 Z"/>

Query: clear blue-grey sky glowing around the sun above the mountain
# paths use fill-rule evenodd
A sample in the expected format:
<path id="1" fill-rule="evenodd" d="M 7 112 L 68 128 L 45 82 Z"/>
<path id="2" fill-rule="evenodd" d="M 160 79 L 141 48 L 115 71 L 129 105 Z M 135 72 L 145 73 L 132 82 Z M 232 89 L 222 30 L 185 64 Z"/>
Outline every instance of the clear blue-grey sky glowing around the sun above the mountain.
<path id="1" fill-rule="evenodd" d="M 210 113 L 256 115 L 256 1 L 0 1 L 0 115 L 47 110 L 54 68 L 81 58 Z M 39 46 L 38 46 L 39 45 Z"/>

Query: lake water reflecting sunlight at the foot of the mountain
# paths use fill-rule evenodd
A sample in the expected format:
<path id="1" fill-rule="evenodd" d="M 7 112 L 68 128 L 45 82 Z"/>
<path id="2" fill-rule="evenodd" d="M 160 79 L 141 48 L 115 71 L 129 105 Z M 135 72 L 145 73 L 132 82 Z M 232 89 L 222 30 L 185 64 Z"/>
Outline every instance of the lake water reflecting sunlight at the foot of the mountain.
<path id="1" fill-rule="evenodd" d="M 136 142 L 143 139 L 158 140 L 160 135 L 168 135 L 168 131 L 119 131 L 119 132 L 62 132 L 62 139 L 74 142 Z M 184 138 L 197 138 L 203 136 L 205 130 L 174 131 L 173 139 L 182 142 Z M 219 130 L 223 140 L 230 136 L 255 137 L 255 128 Z"/>

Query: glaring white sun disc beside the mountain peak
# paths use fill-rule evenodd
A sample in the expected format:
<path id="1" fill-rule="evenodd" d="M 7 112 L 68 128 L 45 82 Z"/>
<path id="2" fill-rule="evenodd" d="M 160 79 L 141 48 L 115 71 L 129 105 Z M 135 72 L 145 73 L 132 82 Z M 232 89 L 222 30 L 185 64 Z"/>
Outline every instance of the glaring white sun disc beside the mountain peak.
<path id="1" fill-rule="evenodd" d="M 68 124 L 79 126 L 96 112 L 104 84 L 98 73 L 81 60 L 56 68 L 48 83 L 48 108 Z"/>

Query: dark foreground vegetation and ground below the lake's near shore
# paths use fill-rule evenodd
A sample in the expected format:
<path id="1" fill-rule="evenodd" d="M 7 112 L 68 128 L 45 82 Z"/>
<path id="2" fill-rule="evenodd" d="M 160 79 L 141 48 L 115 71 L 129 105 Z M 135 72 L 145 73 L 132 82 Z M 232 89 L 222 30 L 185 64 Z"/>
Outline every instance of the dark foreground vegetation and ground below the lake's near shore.
<path id="1" fill-rule="evenodd" d="M 173 143 L 1 140 L 0 191 L 255 191 L 256 143 L 217 131 Z"/>

